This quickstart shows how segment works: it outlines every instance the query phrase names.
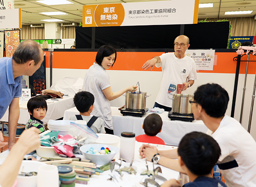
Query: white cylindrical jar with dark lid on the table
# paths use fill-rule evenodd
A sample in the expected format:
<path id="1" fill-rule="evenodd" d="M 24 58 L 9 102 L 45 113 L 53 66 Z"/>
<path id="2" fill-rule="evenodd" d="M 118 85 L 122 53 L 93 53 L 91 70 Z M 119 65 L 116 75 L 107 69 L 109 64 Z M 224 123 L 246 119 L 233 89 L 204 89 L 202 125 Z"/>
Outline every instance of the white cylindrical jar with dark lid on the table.
<path id="1" fill-rule="evenodd" d="M 134 158 L 135 133 L 122 132 L 120 139 L 120 158 L 131 162 Z"/>

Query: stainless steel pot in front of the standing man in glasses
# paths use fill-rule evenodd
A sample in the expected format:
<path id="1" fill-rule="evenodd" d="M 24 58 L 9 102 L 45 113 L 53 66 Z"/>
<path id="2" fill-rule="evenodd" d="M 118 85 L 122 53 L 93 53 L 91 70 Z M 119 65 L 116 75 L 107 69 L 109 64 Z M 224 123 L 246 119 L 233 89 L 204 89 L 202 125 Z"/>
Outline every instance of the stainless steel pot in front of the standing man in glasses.
<path id="1" fill-rule="evenodd" d="M 172 99 L 172 112 L 180 114 L 192 113 L 192 105 L 189 103 L 190 99 L 193 99 L 192 94 L 173 94 Z"/>

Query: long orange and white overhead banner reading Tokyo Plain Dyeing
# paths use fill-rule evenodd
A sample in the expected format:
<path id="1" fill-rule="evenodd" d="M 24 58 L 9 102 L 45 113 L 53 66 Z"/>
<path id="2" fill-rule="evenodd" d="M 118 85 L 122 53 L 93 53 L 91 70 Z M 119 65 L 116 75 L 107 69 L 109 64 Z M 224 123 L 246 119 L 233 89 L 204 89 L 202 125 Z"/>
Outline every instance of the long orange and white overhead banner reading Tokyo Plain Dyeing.
<path id="1" fill-rule="evenodd" d="M 193 24 L 199 0 L 83 6 L 83 27 Z"/>

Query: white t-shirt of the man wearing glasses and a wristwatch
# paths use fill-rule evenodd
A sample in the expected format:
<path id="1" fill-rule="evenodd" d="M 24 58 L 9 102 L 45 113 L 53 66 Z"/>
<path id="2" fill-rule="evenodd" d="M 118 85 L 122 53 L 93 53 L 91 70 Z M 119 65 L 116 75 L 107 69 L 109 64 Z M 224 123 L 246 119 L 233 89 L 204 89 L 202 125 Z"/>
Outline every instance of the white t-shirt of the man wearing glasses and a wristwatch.
<path id="1" fill-rule="evenodd" d="M 224 116 L 211 136 L 221 148 L 217 164 L 220 164 L 226 185 L 256 187 L 256 142 L 253 137 L 236 119 L 229 116 Z"/>

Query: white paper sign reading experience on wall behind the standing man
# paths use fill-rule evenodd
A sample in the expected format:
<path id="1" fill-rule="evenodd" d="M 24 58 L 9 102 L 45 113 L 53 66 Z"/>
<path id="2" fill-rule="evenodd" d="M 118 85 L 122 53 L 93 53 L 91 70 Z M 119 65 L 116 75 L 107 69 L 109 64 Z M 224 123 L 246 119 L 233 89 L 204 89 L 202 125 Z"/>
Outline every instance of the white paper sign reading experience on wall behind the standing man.
<path id="1" fill-rule="evenodd" d="M 195 61 L 196 70 L 213 71 L 215 50 L 186 50 L 185 54 Z"/>

